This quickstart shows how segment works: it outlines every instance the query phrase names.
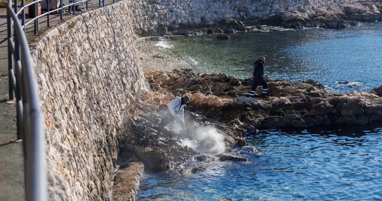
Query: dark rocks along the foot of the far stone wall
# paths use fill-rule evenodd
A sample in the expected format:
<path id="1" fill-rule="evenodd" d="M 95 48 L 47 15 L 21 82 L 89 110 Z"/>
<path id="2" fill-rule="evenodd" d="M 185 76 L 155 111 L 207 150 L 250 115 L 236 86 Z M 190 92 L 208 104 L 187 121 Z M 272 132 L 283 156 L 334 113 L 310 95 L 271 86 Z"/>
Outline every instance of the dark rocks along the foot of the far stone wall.
<path id="1" fill-rule="evenodd" d="M 335 3 L 328 7 L 316 7 L 315 9 L 302 8 L 299 11 L 276 11 L 263 18 L 240 20 L 234 17 L 227 17 L 212 24 L 186 23 L 180 24 L 178 27 L 173 27 L 171 24 L 168 24 L 168 26 L 161 24 L 156 29 L 151 28 L 150 30 L 137 33 L 143 36 L 191 36 L 211 33 L 234 33 L 237 31 L 267 31 L 269 27 L 276 29 L 307 27 L 342 29 L 356 26 L 359 21 L 382 21 L 382 2 Z"/>

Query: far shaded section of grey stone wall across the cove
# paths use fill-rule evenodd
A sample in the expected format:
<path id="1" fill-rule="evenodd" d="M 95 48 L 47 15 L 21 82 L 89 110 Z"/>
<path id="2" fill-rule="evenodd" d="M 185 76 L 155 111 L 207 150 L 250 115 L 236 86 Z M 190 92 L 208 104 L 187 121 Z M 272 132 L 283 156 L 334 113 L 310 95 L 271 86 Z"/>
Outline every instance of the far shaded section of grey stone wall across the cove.
<path id="1" fill-rule="evenodd" d="M 319 8 L 379 0 L 130 0 L 136 31 L 141 35 L 164 34 L 165 30 L 206 27 L 224 18 L 265 18 L 278 11 L 315 14 Z"/>

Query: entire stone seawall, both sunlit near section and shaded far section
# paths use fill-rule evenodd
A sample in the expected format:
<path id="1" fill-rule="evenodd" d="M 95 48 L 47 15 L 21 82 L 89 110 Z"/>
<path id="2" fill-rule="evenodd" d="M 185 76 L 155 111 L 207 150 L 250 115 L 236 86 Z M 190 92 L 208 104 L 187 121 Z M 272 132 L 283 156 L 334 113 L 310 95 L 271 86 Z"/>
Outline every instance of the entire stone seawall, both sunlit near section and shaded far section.
<path id="1" fill-rule="evenodd" d="M 50 200 L 111 200 L 118 142 L 145 89 L 137 35 L 277 10 L 366 0 L 125 0 L 75 16 L 33 44 Z"/>

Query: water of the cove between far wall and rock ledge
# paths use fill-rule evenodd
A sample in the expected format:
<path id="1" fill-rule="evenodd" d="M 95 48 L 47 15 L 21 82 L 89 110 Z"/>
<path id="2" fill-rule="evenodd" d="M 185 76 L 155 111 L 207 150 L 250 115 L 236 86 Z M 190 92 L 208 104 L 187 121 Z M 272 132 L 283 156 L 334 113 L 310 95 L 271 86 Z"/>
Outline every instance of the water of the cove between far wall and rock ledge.
<path id="1" fill-rule="evenodd" d="M 331 92 L 368 91 L 382 85 L 382 22 L 343 30 L 313 28 L 185 37 L 164 41 L 204 72 L 251 76 L 265 55 L 265 74 L 291 81 L 312 78 Z"/>

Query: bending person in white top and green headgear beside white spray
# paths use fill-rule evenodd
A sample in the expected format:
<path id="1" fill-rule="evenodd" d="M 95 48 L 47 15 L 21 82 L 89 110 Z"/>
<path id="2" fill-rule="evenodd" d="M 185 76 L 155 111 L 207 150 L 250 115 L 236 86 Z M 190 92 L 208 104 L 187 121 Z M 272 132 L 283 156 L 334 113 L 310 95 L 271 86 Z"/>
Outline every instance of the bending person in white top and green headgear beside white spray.
<path id="1" fill-rule="evenodd" d="M 162 117 L 158 126 L 158 132 L 163 132 L 164 127 L 171 123 L 176 122 L 177 119 L 184 124 L 184 105 L 190 101 L 188 95 L 183 97 L 176 97 L 167 103 L 167 108 L 162 111 Z M 178 113 L 178 115 L 177 115 Z"/>

